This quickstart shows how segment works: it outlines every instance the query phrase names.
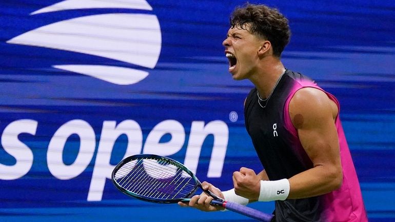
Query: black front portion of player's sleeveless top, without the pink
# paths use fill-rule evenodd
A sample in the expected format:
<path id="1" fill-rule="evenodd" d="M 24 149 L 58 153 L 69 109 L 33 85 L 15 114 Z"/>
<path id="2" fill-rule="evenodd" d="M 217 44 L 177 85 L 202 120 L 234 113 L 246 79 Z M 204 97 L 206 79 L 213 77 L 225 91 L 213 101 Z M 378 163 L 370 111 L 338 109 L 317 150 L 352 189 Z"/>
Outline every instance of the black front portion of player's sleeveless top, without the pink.
<path id="1" fill-rule="evenodd" d="M 296 80 L 296 81 L 295 81 Z M 286 70 L 263 108 L 258 103 L 256 88 L 247 96 L 244 116 L 262 165 L 270 180 L 290 178 L 313 167 L 304 150 L 295 150 L 294 138 L 285 128 L 285 104 L 295 82 L 308 77 Z M 275 201 L 275 221 L 321 221 L 318 197 Z"/>

